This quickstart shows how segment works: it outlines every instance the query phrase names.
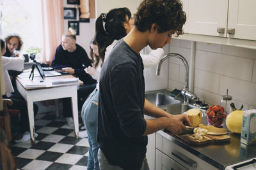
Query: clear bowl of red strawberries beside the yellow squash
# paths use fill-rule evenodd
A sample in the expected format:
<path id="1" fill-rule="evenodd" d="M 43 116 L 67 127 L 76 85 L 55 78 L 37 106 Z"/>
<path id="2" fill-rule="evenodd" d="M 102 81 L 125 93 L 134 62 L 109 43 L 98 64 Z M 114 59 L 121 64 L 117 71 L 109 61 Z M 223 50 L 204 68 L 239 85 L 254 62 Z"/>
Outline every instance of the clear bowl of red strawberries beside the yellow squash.
<path id="1" fill-rule="evenodd" d="M 206 111 L 207 121 L 210 125 L 215 127 L 223 127 L 223 124 L 227 118 L 227 112 L 220 105 L 209 106 Z"/>

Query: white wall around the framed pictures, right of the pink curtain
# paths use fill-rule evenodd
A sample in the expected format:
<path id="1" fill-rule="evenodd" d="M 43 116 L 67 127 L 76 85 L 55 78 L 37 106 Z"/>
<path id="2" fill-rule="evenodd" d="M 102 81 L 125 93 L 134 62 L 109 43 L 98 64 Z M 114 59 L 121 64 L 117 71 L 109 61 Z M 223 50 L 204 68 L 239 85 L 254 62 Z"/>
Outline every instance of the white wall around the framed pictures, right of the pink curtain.
<path id="1" fill-rule="evenodd" d="M 67 0 L 63 0 L 63 6 L 68 8 L 77 8 L 77 19 L 79 20 L 78 5 L 67 4 Z M 68 19 L 69 20 L 69 19 Z M 64 32 L 68 31 L 68 20 L 64 21 Z M 86 53 L 90 55 L 90 41 L 92 40 L 95 32 L 95 18 L 90 18 L 89 22 L 79 22 L 79 36 L 76 36 L 78 45 L 81 45 Z M 61 43 L 61 42 L 60 42 Z"/>

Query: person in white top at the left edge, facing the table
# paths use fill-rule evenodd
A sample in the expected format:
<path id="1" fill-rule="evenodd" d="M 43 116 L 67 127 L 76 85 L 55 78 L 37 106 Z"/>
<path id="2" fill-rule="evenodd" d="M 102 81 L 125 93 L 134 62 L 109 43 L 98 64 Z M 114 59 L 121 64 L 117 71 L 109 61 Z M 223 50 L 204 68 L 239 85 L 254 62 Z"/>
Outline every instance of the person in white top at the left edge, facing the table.
<path id="1" fill-rule="evenodd" d="M 13 95 L 13 86 L 10 80 L 10 76 L 8 74 L 8 70 L 12 69 L 15 71 L 21 71 L 24 67 L 24 56 L 19 55 L 19 57 L 5 57 L 3 56 L 5 53 L 5 42 L 0 38 L 1 42 L 1 56 L 2 56 L 2 64 L 3 64 L 3 72 L 4 72 L 4 83 L 5 83 L 5 95 L 3 99 L 11 99 L 13 101 L 12 106 L 8 106 L 10 109 L 19 110 L 20 111 L 20 128 L 17 136 L 14 141 L 16 143 L 28 141 L 31 136 L 29 133 L 29 120 L 28 120 L 28 108 L 25 99 L 21 95 Z M 34 115 L 38 112 L 38 106 L 36 104 L 34 107 Z M 35 137 L 38 134 L 35 134 Z"/>

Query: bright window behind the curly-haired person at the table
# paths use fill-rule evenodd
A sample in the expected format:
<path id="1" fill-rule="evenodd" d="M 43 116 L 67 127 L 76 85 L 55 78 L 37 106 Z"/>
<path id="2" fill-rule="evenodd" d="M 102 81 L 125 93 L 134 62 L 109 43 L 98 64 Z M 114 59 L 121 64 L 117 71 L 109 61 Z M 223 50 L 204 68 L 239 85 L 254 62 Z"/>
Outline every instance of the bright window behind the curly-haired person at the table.
<path id="1" fill-rule="evenodd" d="M 42 10 L 40 0 L 0 0 L 2 17 L 0 34 L 2 38 L 15 32 L 20 34 L 22 53 L 31 46 L 42 48 Z"/>

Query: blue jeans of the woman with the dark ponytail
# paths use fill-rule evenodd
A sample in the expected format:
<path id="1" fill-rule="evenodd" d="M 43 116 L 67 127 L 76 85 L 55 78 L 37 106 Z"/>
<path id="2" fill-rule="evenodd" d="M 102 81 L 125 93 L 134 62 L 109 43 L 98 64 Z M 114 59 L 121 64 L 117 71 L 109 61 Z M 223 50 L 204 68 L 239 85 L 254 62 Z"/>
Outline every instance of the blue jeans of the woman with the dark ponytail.
<path id="1" fill-rule="evenodd" d="M 97 117 L 98 117 L 98 101 L 99 101 L 99 90 L 95 89 L 86 99 L 83 104 L 81 111 L 82 120 L 86 127 L 88 134 L 88 142 L 90 145 L 89 156 L 87 163 L 87 170 L 98 170 L 98 150 L 99 145 L 97 143 Z"/>

